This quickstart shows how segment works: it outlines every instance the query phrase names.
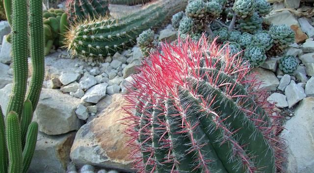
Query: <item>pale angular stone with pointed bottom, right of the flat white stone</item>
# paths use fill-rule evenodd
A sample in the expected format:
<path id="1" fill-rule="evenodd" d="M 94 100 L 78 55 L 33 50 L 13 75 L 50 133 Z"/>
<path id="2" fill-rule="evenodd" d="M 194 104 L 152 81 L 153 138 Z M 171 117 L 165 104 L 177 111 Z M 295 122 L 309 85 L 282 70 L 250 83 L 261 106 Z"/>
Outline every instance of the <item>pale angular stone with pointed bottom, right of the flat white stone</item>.
<path id="1" fill-rule="evenodd" d="M 289 108 L 306 97 L 304 89 L 301 86 L 298 86 L 294 80 L 291 80 L 290 84 L 286 87 L 285 95 L 287 97 Z"/>

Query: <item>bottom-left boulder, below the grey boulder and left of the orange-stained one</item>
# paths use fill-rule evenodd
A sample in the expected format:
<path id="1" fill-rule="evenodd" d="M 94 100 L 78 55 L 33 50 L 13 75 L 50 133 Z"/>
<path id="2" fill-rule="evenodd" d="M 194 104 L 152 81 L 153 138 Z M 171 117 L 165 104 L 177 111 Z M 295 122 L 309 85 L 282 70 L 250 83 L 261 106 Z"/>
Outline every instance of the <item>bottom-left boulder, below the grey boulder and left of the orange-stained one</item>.
<path id="1" fill-rule="evenodd" d="M 39 132 L 29 173 L 65 173 L 75 132 L 46 135 Z"/>

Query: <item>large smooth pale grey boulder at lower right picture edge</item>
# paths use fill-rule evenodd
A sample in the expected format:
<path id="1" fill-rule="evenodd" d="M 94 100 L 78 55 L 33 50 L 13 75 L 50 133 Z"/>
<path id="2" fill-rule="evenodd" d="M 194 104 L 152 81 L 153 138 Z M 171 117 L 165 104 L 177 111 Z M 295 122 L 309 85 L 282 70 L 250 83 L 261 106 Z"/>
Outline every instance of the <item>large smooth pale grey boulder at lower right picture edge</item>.
<path id="1" fill-rule="evenodd" d="M 282 137 L 287 142 L 285 173 L 314 173 L 314 97 L 302 99 Z"/>

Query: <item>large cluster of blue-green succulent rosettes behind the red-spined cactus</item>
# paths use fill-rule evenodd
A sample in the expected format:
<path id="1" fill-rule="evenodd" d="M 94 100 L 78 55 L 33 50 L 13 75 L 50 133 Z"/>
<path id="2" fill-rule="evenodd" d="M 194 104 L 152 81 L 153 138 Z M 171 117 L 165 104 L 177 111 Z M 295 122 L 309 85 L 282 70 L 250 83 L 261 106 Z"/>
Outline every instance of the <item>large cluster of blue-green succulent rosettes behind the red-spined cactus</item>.
<path id="1" fill-rule="evenodd" d="M 294 31 L 287 25 L 265 22 L 270 10 L 266 0 L 189 0 L 185 12 L 173 16 L 172 25 L 182 39 L 206 33 L 221 44 L 233 42 L 230 53 L 239 52 L 239 44 L 245 59 L 260 66 L 267 56 L 279 55 L 294 42 Z"/>

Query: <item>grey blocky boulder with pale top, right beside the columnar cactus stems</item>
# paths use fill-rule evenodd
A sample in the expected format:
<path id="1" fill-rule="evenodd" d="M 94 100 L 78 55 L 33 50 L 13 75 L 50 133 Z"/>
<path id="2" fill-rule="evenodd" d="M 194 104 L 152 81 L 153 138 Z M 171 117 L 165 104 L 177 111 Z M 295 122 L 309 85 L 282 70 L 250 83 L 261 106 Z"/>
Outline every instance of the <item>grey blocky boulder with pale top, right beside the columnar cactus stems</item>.
<path id="1" fill-rule="evenodd" d="M 39 131 L 49 135 L 64 134 L 78 130 L 81 121 L 75 114 L 80 99 L 53 89 L 42 89 L 33 120 Z"/>

